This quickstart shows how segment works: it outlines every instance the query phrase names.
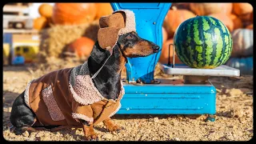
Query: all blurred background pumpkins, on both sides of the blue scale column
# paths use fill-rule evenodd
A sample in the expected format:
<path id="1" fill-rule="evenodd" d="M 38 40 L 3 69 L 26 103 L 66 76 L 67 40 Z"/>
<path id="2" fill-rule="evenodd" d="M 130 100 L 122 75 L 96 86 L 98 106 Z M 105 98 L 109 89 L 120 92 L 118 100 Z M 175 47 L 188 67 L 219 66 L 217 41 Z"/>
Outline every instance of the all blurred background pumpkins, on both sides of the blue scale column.
<path id="1" fill-rule="evenodd" d="M 110 3 L 55 3 L 54 6 L 42 4 L 38 8 L 41 17 L 34 19 L 34 29 L 42 30 L 50 26 L 72 26 L 93 22 L 113 12 Z M 218 18 L 230 30 L 233 38 L 232 58 L 239 68 L 240 59 L 252 60 L 253 49 L 253 6 L 250 3 L 172 3 L 162 26 L 162 54 L 159 62 L 168 63 L 169 45 L 173 43 L 174 32 L 186 19 L 196 15 L 208 15 Z M 94 46 L 90 38 L 82 37 L 70 43 L 68 50 L 79 58 L 88 57 Z M 173 49 L 170 49 L 172 60 Z M 175 54 L 175 63 L 182 63 Z M 251 62 L 252 63 L 252 62 Z M 249 66 L 246 64 L 246 66 Z"/>

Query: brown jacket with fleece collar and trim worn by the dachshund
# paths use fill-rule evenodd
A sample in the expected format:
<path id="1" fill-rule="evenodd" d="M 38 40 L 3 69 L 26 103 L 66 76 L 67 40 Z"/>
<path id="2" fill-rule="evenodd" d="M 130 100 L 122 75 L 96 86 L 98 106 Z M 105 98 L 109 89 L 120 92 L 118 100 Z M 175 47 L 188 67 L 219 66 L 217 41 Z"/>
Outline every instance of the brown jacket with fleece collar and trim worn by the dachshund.
<path id="1" fill-rule="evenodd" d="M 121 89 L 116 100 L 102 97 L 85 62 L 32 80 L 26 86 L 24 99 L 41 126 L 81 125 L 78 118 L 96 125 L 119 110 L 124 94 L 122 82 Z"/>

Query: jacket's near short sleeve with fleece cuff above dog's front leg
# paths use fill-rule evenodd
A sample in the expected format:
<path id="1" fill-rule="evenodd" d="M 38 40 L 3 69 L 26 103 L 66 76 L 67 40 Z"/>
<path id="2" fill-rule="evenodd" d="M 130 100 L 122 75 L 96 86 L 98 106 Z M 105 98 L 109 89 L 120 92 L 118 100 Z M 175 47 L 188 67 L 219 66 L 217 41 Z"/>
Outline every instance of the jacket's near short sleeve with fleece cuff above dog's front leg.
<path id="1" fill-rule="evenodd" d="M 72 104 L 72 117 L 86 122 L 94 122 L 93 110 L 90 105 L 81 105 L 78 102 Z"/>

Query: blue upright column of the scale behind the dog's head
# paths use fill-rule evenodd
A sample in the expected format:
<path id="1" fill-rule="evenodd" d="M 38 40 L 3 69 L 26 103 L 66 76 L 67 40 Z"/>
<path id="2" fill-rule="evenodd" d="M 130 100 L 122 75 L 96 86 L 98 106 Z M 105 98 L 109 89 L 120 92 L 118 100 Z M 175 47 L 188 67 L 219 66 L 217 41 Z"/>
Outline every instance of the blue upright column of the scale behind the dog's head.
<path id="1" fill-rule="evenodd" d="M 113 10 L 132 10 L 135 14 L 136 30 L 141 38 L 160 46 L 160 51 L 141 58 L 127 58 L 126 74 L 128 82 L 154 82 L 154 68 L 162 51 L 162 22 L 171 3 L 126 3 L 111 2 Z"/>

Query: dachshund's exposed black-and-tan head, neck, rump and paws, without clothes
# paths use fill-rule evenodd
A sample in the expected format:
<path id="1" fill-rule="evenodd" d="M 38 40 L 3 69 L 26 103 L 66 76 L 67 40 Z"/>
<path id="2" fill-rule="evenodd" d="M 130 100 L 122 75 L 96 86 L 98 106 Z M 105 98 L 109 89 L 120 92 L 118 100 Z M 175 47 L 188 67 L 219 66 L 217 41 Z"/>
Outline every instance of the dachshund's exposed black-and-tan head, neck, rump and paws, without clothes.
<path id="1" fill-rule="evenodd" d="M 109 50 L 102 49 L 98 45 L 98 42 L 95 42 L 94 48 L 87 61 L 90 76 L 97 73 L 101 67 L 102 70 L 100 70 L 97 77 L 92 79 L 94 86 L 104 98 L 115 100 L 118 98 L 118 94 L 122 88 L 120 86 L 121 71 L 127 62 L 126 58 L 146 57 L 150 54 L 157 53 L 158 50 L 159 46 L 146 39 L 140 38 L 136 32 L 120 35 L 113 47 L 112 54 L 110 54 Z M 107 58 L 108 60 L 106 61 Z M 103 64 L 104 62 L 106 63 Z M 38 121 L 37 115 L 34 113 L 34 110 L 31 110 L 30 107 L 26 105 L 24 94 L 25 91 L 15 99 L 10 114 L 10 122 L 15 127 L 15 134 L 22 134 L 24 130 L 35 130 L 33 127 L 37 127 L 35 124 Z M 82 126 L 84 130 L 86 140 L 98 139 L 97 134 L 94 133 L 94 124 L 92 122 L 86 122 L 79 118 L 78 121 L 78 124 Z M 106 118 L 102 122 L 110 132 L 119 132 L 119 130 L 122 130 L 122 126 L 117 126 L 110 118 Z M 48 129 L 57 126 L 42 127 Z"/>

